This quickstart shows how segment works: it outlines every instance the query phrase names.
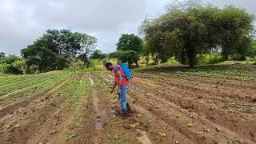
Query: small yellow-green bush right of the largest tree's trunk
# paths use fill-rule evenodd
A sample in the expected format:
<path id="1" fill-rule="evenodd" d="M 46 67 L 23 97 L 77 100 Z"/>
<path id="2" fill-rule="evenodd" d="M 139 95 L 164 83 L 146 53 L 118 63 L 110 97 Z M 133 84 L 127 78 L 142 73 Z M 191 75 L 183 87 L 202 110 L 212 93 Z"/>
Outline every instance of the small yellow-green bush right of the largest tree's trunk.
<path id="1" fill-rule="evenodd" d="M 216 64 L 223 62 L 222 54 L 199 54 L 197 57 L 197 63 L 199 65 Z"/>

